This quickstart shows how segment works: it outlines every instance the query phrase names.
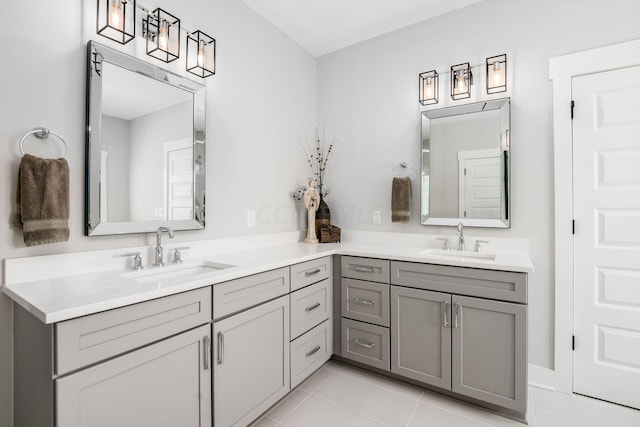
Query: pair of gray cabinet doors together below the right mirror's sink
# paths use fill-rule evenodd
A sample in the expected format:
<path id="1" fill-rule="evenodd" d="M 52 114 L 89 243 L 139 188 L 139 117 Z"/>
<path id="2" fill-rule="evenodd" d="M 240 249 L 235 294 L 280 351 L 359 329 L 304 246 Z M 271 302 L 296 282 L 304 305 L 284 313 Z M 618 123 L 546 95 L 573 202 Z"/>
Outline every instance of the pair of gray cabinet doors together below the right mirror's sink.
<path id="1" fill-rule="evenodd" d="M 391 371 L 520 413 L 526 306 L 391 287 Z"/>

